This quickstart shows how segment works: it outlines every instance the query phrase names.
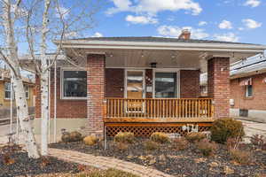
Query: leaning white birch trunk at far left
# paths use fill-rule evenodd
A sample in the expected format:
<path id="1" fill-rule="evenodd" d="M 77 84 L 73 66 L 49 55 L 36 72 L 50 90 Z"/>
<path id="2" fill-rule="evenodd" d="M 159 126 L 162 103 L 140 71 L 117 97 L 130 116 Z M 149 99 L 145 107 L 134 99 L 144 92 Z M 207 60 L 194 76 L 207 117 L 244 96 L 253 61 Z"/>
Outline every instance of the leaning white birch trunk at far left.
<path id="1" fill-rule="evenodd" d="M 35 144 L 35 137 L 30 124 L 30 118 L 27 108 L 27 99 L 23 86 L 22 77 L 20 74 L 20 64 L 18 56 L 18 47 L 14 37 L 14 19 L 12 19 L 11 1 L 4 0 L 3 7 L 3 22 L 6 36 L 6 46 L 8 49 L 7 62 L 11 67 L 12 81 L 15 92 L 15 101 L 17 106 L 17 113 L 20 119 L 20 127 L 24 135 L 24 141 L 27 148 L 29 158 L 40 158 L 40 155 Z"/>

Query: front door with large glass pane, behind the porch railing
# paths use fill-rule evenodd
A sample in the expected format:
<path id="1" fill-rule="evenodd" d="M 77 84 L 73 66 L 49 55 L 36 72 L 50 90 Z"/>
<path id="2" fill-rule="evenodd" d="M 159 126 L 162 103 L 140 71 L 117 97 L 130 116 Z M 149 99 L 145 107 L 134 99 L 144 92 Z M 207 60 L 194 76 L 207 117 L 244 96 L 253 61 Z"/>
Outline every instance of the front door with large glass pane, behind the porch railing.
<path id="1" fill-rule="evenodd" d="M 127 112 L 143 112 L 145 98 L 145 71 L 126 71 L 126 104 Z M 132 99 L 132 100 L 130 100 Z"/>

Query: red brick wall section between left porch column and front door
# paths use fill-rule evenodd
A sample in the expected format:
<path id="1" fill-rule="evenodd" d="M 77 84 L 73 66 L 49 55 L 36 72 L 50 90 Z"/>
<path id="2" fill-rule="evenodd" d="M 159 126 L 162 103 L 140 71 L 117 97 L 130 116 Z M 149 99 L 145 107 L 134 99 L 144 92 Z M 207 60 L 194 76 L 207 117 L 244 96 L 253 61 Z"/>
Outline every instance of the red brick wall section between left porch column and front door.
<path id="1" fill-rule="evenodd" d="M 124 97 L 124 69 L 106 68 L 106 97 Z"/>

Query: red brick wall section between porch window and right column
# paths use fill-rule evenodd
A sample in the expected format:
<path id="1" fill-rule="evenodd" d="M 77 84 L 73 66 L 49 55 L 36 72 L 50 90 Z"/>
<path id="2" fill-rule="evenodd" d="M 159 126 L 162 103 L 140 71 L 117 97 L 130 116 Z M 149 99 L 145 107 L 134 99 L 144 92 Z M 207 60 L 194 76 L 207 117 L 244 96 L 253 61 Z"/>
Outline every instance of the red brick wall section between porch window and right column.
<path id="1" fill-rule="evenodd" d="M 197 98 L 200 96 L 200 70 L 180 71 L 180 97 Z"/>

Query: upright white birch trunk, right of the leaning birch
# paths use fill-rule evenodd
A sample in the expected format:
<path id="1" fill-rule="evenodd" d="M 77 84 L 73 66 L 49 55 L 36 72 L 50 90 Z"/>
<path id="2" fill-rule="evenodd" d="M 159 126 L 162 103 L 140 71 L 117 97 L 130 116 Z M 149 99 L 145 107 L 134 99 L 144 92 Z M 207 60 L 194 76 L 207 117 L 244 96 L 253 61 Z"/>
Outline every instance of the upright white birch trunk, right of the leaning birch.
<path id="1" fill-rule="evenodd" d="M 46 58 L 46 36 L 49 31 L 48 27 L 48 11 L 50 8 L 51 1 L 44 1 L 44 11 L 43 11 L 43 28 L 42 28 L 42 42 L 40 45 L 41 50 L 41 59 L 42 59 L 42 70 L 41 73 L 41 110 L 42 110 L 42 144 L 41 144 L 41 154 L 43 156 L 48 155 L 48 119 L 49 119 L 49 88 L 48 88 L 48 79 L 49 79 L 49 69 L 48 61 Z"/>

